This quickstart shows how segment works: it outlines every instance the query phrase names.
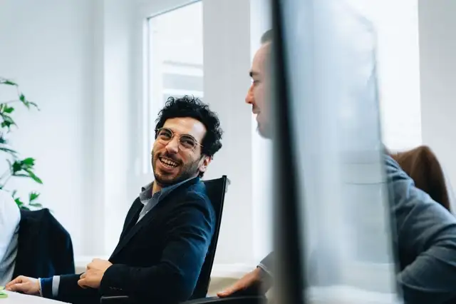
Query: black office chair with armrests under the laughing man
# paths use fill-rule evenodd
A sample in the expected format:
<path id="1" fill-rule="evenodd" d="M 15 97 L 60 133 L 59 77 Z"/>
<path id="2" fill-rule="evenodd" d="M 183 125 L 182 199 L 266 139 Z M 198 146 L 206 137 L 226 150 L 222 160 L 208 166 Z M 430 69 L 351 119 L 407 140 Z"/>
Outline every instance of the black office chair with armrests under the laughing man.
<path id="1" fill-rule="evenodd" d="M 217 216 L 217 222 L 215 224 L 214 236 L 212 237 L 209 250 L 207 251 L 206 259 L 202 265 L 201 273 L 197 280 L 195 291 L 191 297 L 193 300 L 188 300 L 181 304 L 202 304 L 202 303 L 222 303 L 222 304 L 257 304 L 259 297 L 256 296 L 239 296 L 233 298 L 205 298 L 207 290 L 209 289 L 210 275 L 212 272 L 212 265 L 214 264 L 215 252 L 217 250 L 217 242 L 219 239 L 220 224 L 222 222 L 223 203 L 225 193 L 227 192 L 227 186 L 229 186 L 229 179 L 227 176 L 222 178 L 212 179 L 204 181 L 206 186 L 207 196 L 214 207 L 215 214 Z M 128 295 L 115 295 L 115 296 L 103 296 L 100 298 L 101 304 L 160 304 L 160 303 L 143 303 L 138 302 L 130 298 Z"/>

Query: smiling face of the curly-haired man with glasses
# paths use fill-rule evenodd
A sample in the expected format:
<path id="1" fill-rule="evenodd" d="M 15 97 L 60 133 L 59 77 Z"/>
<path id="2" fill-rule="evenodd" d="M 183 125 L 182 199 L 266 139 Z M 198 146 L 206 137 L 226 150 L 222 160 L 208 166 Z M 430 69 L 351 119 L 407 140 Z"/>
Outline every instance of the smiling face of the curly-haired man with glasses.
<path id="1" fill-rule="evenodd" d="M 179 117 L 165 121 L 152 148 L 152 168 L 160 186 L 185 181 L 204 172 L 210 158 L 202 155 L 206 127 L 195 118 Z M 195 140 L 194 148 L 189 143 Z"/>

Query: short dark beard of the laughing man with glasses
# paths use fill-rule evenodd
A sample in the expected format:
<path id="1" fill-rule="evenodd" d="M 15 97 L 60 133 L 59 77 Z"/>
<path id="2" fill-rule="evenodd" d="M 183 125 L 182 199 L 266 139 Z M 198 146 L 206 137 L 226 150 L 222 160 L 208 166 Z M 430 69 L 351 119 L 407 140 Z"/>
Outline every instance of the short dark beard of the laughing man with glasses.
<path id="1" fill-rule="evenodd" d="M 156 168 L 156 163 L 157 161 L 160 161 L 160 157 L 165 157 L 168 158 L 172 161 L 175 161 L 178 163 L 178 169 L 179 171 L 177 173 L 166 173 L 166 172 L 161 172 L 159 168 Z M 201 157 L 202 158 L 202 157 Z M 183 163 L 182 160 L 178 159 L 175 156 L 170 155 L 166 151 L 164 153 L 157 153 L 155 154 L 154 151 L 152 150 L 152 169 L 154 173 L 154 178 L 155 181 L 162 187 L 166 186 L 171 186 L 174 185 L 175 183 L 180 183 L 181 181 L 185 181 L 189 178 L 193 178 L 199 174 L 199 161 L 201 158 L 194 160 L 194 161 L 189 161 L 187 163 Z"/>

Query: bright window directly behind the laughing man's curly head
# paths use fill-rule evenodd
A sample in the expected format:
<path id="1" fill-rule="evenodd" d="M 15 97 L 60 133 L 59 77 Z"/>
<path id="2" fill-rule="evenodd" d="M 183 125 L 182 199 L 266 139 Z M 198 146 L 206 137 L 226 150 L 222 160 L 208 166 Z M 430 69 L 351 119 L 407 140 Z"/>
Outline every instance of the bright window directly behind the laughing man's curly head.
<path id="1" fill-rule="evenodd" d="M 167 98 L 204 97 L 202 1 L 150 17 L 147 40 L 147 92 L 142 111 L 145 174 L 152 173 L 149 153 L 155 138 L 155 118 Z"/>

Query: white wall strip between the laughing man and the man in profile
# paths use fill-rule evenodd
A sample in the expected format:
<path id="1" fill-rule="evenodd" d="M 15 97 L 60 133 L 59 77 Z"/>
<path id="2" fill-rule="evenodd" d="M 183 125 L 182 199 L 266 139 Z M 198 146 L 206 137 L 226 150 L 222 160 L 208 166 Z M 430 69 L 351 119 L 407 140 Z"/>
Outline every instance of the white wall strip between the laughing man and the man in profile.
<path id="1" fill-rule="evenodd" d="M 250 4 L 203 0 L 204 100 L 219 114 L 224 138 L 207 178 L 232 181 L 224 203 L 216 263 L 255 263 L 252 205 L 252 113 L 249 88 Z M 233 22 L 236 20 L 236 22 Z"/>

